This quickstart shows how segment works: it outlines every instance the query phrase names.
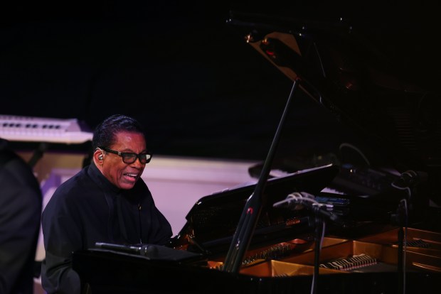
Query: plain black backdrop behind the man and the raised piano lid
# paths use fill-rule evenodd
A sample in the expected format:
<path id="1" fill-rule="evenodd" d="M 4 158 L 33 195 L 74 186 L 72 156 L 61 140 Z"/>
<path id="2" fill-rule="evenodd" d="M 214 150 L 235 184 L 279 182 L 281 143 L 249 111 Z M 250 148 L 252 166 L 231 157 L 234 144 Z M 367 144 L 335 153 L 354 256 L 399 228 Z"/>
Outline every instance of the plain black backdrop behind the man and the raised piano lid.
<path id="1" fill-rule="evenodd" d="M 1 9 L 0 113 L 77 118 L 91 129 L 110 114 L 128 114 L 147 127 L 149 147 L 156 154 L 263 160 L 292 81 L 227 26 L 228 12 L 332 18 L 355 11 L 354 18 L 367 13 L 371 25 L 390 16 L 406 20 L 413 9 L 407 2 L 389 9 L 359 5 L 133 0 L 7 4 Z M 284 129 L 280 156 L 308 161 L 338 154 L 341 143 L 369 148 L 362 133 L 300 93 Z"/>

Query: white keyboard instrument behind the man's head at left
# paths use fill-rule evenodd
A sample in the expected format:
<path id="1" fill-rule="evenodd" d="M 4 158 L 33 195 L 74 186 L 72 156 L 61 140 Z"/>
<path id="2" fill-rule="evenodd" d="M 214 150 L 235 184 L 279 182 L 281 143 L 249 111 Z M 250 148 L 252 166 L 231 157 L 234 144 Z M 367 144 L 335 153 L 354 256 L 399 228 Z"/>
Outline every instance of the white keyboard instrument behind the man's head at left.
<path id="1" fill-rule="evenodd" d="M 0 115 L 0 138 L 9 141 L 77 144 L 92 135 L 78 119 Z"/>

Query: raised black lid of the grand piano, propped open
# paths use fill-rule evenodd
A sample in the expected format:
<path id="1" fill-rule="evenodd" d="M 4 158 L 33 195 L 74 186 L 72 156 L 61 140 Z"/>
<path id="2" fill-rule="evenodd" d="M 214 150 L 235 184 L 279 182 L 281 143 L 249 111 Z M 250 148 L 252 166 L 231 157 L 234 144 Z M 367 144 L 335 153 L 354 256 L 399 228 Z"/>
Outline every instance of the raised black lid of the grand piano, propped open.
<path id="1" fill-rule="evenodd" d="M 230 11 L 228 24 L 289 79 L 299 77 L 304 92 L 381 160 L 390 160 L 383 168 L 427 173 L 430 198 L 441 204 L 441 62 L 427 11 L 401 7 L 389 14 L 381 5 L 372 21 L 350 6 L 287 5 Z"/>

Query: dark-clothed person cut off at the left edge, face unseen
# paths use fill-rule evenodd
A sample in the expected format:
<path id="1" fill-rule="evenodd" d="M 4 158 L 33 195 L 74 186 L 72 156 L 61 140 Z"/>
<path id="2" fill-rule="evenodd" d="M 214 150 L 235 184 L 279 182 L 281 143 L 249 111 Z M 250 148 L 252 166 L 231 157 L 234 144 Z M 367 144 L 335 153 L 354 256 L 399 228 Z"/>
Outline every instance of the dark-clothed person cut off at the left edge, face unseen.
<path id="1" fill-rule="evenodd" d="M 0 293 L 32 294 L 43 196 L 31 165 L 0 138 Z"/>

